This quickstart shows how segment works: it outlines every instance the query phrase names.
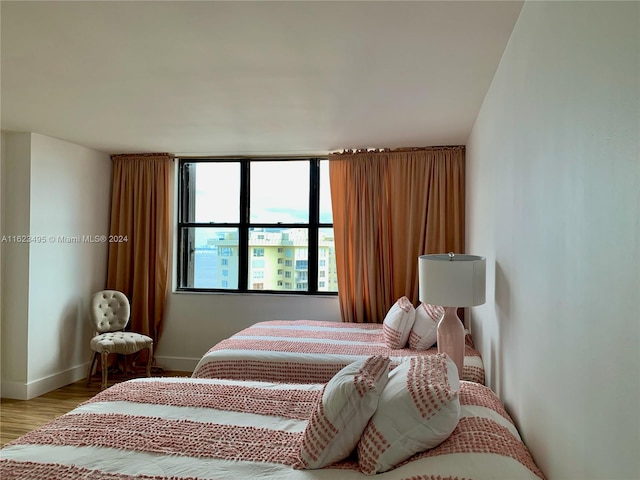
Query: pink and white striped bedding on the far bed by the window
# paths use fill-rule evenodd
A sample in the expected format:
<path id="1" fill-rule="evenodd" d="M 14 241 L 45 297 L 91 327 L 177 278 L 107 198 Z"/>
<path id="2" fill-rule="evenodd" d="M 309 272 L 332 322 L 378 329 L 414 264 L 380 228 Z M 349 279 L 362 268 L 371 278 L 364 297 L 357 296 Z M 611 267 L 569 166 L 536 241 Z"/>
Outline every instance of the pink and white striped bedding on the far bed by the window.
<path id="1" fill-rule="evenodd" d="M 407 357 L 435 353 L 437 348 L 387 347 L 381 324 L 272 320 L 214 345 L 198 362 L 193 377 L 325 383 L 346 365 L 370 355 L 390 357 L 393 368 Z M 484 365 L 470 335 L 461 378 L 484 384 Z"/>

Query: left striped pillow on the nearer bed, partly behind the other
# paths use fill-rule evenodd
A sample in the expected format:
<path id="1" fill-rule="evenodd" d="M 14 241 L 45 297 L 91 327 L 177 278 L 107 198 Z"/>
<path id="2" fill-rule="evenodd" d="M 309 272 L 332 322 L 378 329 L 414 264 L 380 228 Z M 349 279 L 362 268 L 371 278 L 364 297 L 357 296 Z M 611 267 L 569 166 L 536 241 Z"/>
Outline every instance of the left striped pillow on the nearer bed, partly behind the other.
<path id="1" fill-rule="evenodd" d="M 321 468 L 355 450 L 387 384 L 389 362 L 374 355 L 347 365 L 329 380 L 304 431 L 295 468 Z"/>

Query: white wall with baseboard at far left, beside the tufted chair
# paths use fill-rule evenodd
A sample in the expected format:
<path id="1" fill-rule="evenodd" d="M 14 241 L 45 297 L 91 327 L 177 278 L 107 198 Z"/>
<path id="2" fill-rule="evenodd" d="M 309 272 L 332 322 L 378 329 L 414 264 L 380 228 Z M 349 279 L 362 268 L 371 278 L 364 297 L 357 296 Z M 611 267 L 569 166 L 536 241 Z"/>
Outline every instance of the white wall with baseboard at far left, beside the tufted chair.
<path id="1" fill-rule="evenodd" d="M 104 288 L 107 244 L 62 238 L 108 233 L 111 161 L 107 154 L 43 135 L 4 138 L 5 188 L 15 186 L 3 189 L 3 220 L 11 227 L 3 234 L 22 233 L 26 224 L 25 233 L 42 241 L 4 245 L 5 258 L 10 248 L 20 255 L 10 255 L 11 275 L 11 265 L 3 262 L 2 395 L 32 398 L 86 374 L 86 303 Z M 27 152 L 11 153 L 12 145 L 25 143 Z M 12 300 L 16 292 L 19 301 Z"/>

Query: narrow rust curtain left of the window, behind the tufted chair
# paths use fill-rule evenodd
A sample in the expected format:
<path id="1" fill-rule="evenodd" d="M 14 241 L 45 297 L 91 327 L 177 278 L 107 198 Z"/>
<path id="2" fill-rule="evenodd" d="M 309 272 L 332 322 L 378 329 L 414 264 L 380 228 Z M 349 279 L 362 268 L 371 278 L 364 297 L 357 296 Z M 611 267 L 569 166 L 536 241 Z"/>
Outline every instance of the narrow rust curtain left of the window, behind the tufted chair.
<path id="1" fill-rule="evenodd" d="M 173 156 L 113 155 L 107 288 L 131 302 L 130 328 L 162 333 L 169 288 L 173 213 Z"/>

